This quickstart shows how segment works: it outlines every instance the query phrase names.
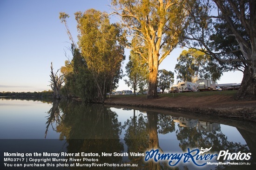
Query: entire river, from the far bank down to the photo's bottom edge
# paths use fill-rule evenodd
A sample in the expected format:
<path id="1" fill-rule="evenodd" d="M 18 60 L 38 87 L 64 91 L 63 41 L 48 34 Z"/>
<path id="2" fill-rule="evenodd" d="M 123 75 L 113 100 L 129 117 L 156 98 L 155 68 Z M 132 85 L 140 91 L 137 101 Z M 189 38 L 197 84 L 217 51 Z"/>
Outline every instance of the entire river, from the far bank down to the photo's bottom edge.
<path id="1" fill-rule="evenodd" d="M 88 169 L 102 169 L 97 164 L 109 164 L 104 170 L 128 169 L 117 164 L 134 164 L 135 167 L 129 167 L 131 170 L 196 170 L 201 165 L 203 170 L 252 169 L 256 165 L 255 125 L 145 108 L 0 98 L 0 160 L 31 153 L 24 156 L 31 158 L 26 164 L 35 166 L 39 159 L 38 164 L 47 169 L 55 169 L 57 164 L 61 168 L 68 164 L 65 168 L 72 170 L 86 164 L 91 165 Z M 202 153 L 202 160 L 193 157 L 205 149 L 209 151 Z M 151 156 L 155 158 L 153 162 L 145 161 L 152 153 L 149 151 L 159 151 L 166 160 Z M 53 157 L 58 161 L 53 162 Z M 19 163 L 26 165 L 21 160 Z M 1 166 L 1 170 L 13 169 L 2 162 Z"/>

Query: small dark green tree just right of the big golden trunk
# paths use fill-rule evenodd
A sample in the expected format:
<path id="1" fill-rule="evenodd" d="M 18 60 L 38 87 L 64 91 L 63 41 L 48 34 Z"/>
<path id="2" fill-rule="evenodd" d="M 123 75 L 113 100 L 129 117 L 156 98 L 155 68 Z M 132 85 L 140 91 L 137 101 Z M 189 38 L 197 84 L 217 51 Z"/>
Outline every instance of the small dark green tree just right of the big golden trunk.
<path id="1" fill-rule="evenodd" d="M 174 73 L 167 71 L 166 69 L 161 69 L 158 72 L 157 86 L 162 90 L 170 88 L 170 85 L 174 82 Z"/>

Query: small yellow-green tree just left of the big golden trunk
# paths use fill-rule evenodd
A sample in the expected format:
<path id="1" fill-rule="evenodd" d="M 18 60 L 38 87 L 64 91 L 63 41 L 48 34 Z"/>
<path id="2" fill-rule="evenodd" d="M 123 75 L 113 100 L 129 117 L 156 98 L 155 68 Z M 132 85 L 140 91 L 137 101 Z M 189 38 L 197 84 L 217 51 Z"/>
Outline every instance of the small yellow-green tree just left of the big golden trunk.
<path id="1" fill-rule="evenodd" d="M 144 60 L 141 60 L 140 56 L 133 51 L 130 52 L 129 61 L 126 64 L 126 73 L 128 79 L 125 79 L 125 83 L 128 87 L 131 87 L 136 95 L 136 89 L 143 89 L 148 82 L 148 69 Z"/>

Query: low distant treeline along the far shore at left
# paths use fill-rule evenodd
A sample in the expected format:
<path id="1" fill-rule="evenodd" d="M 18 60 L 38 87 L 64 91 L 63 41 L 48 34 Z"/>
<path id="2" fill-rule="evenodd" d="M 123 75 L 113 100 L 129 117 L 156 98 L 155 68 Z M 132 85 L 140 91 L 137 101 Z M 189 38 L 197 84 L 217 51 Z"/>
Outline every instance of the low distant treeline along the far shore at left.
<path id="1" fill-rule="evenodd" d="M 52 90 L 42 92 L 0 92 L 0 97 L 12 98 L 53 98 Z"/>

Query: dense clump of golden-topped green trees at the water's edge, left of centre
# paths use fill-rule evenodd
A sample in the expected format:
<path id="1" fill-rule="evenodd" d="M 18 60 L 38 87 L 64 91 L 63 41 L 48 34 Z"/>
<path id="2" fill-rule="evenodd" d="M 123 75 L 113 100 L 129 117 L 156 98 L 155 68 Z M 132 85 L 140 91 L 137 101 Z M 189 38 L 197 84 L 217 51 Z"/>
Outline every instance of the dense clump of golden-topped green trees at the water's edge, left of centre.
<path id="1" fill-rule="evenodd" d="M 60 13 L 66 25 L 67 14 Z M 125 59 L 125 39 L 120 38 L 119 24 L 110 24 L 108 15 L 89 9 L 75 13 L 78 29 L 78 47 L 72 40 L 73 59 L 61 68 L 67 81 L 62 93 L 68 97 L 80 97 L 83 101 L 104 102 L 107 91 L 115 88 L 121 78 L 121 62 Z"/>

